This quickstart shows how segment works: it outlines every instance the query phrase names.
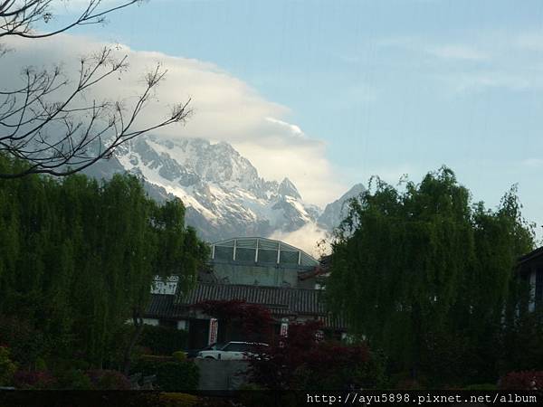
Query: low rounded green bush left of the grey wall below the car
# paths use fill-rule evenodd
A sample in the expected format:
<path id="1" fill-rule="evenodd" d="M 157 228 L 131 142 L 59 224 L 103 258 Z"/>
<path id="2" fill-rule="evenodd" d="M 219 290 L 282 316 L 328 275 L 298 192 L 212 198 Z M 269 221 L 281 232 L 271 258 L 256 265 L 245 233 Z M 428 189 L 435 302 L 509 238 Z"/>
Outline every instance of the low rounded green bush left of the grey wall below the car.
<path id="1" fill-rule="evenodd" d="M 165 392 L 189 392 L 198 387 L 200 373 L 190 361 L 167 362 L 157 366 L 157 384 Z"/>

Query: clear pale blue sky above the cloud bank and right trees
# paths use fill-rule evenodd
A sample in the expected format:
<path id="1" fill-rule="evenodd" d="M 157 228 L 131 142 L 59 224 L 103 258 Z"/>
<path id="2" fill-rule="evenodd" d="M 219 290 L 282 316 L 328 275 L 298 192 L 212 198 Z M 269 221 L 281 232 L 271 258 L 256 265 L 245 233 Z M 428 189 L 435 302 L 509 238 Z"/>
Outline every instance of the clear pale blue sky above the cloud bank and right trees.
<path id="1" fill-rule="evenodd" d="M 445 164 L 490 206 L 518 183 L 543 223 L 541 1 L 151 0 L 109 19 L 72 33 L 213 63 L 322 140 L 341 185 Z"/>

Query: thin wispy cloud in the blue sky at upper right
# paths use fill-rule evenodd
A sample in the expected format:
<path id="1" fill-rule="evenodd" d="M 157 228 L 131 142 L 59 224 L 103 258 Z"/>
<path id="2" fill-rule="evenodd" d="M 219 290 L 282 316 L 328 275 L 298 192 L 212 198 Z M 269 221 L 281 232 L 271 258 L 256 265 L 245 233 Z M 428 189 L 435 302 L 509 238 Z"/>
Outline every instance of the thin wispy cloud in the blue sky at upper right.
<path id="1" fill-rule="evenodd" d="M 377 45 L 432 56 L 414 60 L 418 70 L 441 80 L 454 96 L 492 89 L 543 89 L 543 32 L 478 31 L 463 36 L 455 43 L 400 36 L 381 39 Z"/>

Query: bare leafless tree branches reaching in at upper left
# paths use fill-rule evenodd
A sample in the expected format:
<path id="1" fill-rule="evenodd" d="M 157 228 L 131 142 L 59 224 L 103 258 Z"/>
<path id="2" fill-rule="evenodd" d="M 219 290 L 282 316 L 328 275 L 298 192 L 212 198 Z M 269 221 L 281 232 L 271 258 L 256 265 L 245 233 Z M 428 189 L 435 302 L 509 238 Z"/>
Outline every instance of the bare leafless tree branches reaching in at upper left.
<path id="1" fill-rule="evenodd" d="M 70 24 L 43 33 L 35 31 L 34 26 L 52 19 L 52 0 L 0 0 L 0 59 L 8 51 L 2 43 L 7 36 L 39 41 L 76 25 L 103 23 L 106 14 L 140 2 L 127 0 L 107 8 L 102 0 L 87 0 Z M 118 58 L 116 54 L 106 47 L 81 58 L 75 80 L 68 80 L 60 68 L 27 67 L 21 86 L 0 89 L 0 154 L 28 163 L 11 174 L 0 171 L 0 179 L 29 174 L 71 175 L 110 157 L 116 147 L 133 137 L 186 120 L 190 100 L 176 104 L 156 124 L 137 128 L 138 116 L 166 74 L 160 66 L 145 75 L 143 90 L 130 108 L 122 101 L 85 101 L 82 96 L 101 80 L 128 69 L 127 56 Z"/>

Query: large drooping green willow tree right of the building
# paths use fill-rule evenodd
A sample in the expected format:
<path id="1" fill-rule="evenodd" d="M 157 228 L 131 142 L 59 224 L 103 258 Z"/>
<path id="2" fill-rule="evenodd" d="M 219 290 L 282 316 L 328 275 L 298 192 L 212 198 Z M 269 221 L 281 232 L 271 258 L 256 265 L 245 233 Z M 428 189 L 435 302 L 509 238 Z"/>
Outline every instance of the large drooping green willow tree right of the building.
<path id="1" fill-rule="evenodd" d="M 533 246 L 516 190 L 491 211 L 446 167 L 418 185 L 371 184 L 332 246 L 331 308 L 397 371 L 491 380 L 514 264 Z"/>

